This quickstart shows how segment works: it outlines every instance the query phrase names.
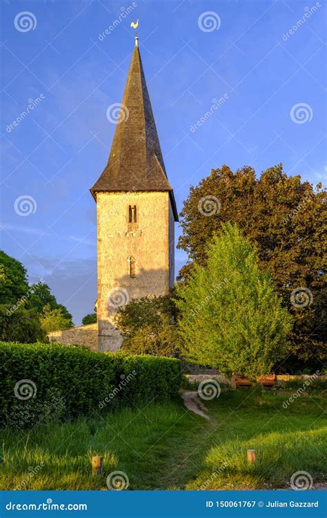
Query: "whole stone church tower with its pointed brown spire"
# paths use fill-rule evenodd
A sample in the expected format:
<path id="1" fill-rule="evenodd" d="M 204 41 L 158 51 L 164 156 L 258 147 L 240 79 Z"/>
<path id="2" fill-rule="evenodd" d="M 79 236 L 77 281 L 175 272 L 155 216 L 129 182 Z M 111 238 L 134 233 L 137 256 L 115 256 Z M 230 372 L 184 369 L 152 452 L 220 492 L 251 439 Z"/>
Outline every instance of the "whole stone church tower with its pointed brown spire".
<path id="1" fill-rule="evenodd" d="M 137 37 L 108 164 L 90 191 L 97 202 L 99 350 L 116 351 L 117 308 L 167 294 L 174 282 L 177 208 Z"/>

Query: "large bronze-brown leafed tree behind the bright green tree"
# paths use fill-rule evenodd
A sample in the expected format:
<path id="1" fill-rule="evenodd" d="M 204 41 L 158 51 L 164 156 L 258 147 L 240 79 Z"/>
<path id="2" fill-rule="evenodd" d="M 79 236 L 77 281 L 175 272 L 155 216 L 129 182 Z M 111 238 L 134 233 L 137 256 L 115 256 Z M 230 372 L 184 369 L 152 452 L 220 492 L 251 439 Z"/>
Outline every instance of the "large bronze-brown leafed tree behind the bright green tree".
<path id="1" fill-rule="evenodd" d="M 237 223 L 257 246 L 261 267 L 270 271 L 284 305 L 295 317 L 292 354 L 284 370 L 321 368 L 324 360 L 326 318 L 319 316 L 326 289 L 326 198 L 320 185 L 313 189 L 300 176 L 286 175 L 281 164 L 260 178 L 250 167 L 233 173 L 222 166 L 191 187 L 181 211 L 178 247 L 188 253 L 189 262 L 181 269 L 180 280 L 187 278 L 193 261 L 206 264 L 210 242 L 221 234 L 224 222 Z M 290 294 L 299 287 L 310 289 L 312 304 L 291 304 Z"/>

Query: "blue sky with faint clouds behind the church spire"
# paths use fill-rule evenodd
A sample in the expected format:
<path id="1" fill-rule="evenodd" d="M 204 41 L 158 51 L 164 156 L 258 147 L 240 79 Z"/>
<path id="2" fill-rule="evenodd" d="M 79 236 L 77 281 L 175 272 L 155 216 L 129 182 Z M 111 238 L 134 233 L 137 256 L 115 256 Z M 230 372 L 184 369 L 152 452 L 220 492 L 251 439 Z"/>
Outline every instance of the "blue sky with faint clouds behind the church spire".
<path id="1" fill-rule="evenodd" d="M 325 2 L 3 0 L 1 248 L 31 282 L 48 282 L 75 324 L 97 298 L 88 189 L 108 160 L 106 111 L 121 102 L 137 19 L 179 211 L 221 164 L 259 175 L 283 162 L 290 175 L 326 179 Z M 177 271 L 185 262 L 177 251 Z"/>

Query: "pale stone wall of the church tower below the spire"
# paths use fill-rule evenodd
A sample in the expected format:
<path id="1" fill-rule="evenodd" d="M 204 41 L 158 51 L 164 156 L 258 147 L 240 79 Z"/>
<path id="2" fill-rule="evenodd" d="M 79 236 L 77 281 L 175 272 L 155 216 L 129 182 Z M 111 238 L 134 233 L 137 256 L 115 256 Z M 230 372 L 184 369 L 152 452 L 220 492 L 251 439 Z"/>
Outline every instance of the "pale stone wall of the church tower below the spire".
<path id="1" fill-rule="evenodd" d="M 137 207 L 136 223 L 128 222 L 129 205 Z M 121 345 L 115 327 L 118 307 L 132 298 L 168 292 L 174 262 L 170 211 L 168 192 L 97 193 L 100 351 L 116 351 Z M 135 278 L 129 273 L 131 256 Z"/>

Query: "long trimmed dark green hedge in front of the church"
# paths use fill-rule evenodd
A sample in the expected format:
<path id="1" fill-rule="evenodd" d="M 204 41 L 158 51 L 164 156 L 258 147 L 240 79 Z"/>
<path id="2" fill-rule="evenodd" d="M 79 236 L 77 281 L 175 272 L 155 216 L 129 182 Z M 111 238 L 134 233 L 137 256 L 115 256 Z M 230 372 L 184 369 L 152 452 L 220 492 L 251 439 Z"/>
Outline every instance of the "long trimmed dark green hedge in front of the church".
<path id="1" fill-rule="evenodd" d="M 180 385 L 180 363 L 173 358 L 0 342 L 0 415 L 5 424 L 31 425 L 56 413 L 61 414 L 58 419 L 70 419 L 166 401 Z"/>

